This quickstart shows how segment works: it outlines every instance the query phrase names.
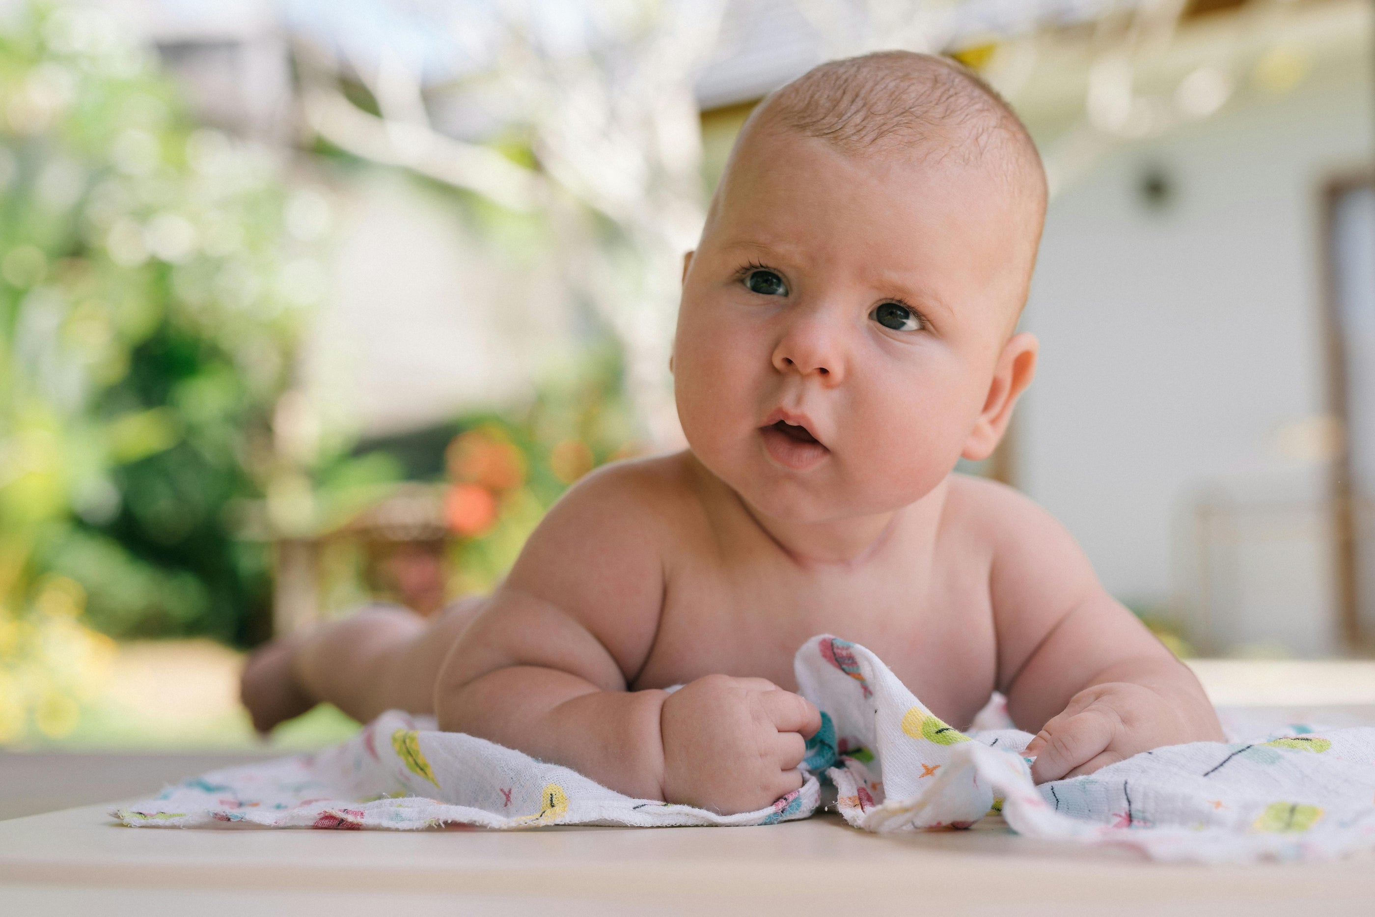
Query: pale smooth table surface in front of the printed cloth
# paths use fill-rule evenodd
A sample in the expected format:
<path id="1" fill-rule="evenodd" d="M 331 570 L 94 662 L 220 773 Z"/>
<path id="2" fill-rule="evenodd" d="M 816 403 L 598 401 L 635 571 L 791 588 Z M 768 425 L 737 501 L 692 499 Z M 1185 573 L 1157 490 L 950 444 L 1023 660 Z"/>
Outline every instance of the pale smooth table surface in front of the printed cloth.
<path id="1" fill-rule="evenodd" d="M 877 836 L 836 815 L 756 828 L 345 832 L 121 828 L 109 806 L 0 822 L 0 913 L 1326 914 L 1375 909 L 1375 857 L 1151 863 L 990 818 Z M 458 907 L 458 910 L 455 910 Z"/>

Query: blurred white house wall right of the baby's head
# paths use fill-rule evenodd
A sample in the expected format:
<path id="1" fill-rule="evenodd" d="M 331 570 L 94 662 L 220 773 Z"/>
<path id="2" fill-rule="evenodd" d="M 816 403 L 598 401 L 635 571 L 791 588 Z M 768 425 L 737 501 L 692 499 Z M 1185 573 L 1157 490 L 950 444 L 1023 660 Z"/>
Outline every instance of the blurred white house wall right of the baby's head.
<path id="1" fill-rule="evenodd" d="M 1326 470 L 1292 434 L 1328 411 L 1320 202 L 1332 173 L 1371 159 L 1370 80 L 1353 65 L 1123 148 L 1050 208 L 1023 322 L 1042 352 L 1019 417 L 1020 484 L 1123 599 L 1196 593 L 1202 492 L 1321 496 Z M 1138 194 L 1148 164 L 1176 181 L 1160 210 Z M 1217 641 L 1330 650 L 1326 536 L 1299 513 L 1233 558 L 1240 594 Z"/>

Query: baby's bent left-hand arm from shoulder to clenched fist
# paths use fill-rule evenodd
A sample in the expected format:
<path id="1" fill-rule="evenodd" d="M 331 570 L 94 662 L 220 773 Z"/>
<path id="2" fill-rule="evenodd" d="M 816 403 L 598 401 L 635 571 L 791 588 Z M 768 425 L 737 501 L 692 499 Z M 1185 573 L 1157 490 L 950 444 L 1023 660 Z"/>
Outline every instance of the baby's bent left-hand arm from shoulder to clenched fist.
<path id="1" fill-rule="evenodd" d="M 653 466 L 650 466 L 653 467 Z M 572 488 L 440 670 L 440 729 L 481 736 L 639 799 L 722 813 L 796 789 L 821 722 L 764 679 L 628 690 L 666 593 L 672 481 L 612 466 Z M 671 476 L 670 476 L 671 477 Z"/>

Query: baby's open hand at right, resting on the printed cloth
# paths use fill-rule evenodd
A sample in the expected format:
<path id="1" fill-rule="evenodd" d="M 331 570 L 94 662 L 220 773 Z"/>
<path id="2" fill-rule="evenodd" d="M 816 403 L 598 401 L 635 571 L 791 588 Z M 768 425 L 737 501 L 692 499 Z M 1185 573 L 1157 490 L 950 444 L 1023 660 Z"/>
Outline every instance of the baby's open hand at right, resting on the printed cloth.
<path id="1" fill-rule="evenodd" d="M 1216 726 L 1202 729 L 1181 704 L 1172 704 L 1150 687 L 1107 682 L 1071 697 L 1068 707 L 1031 740 L 1026 755 L 1035 755 L 1031 777 L 1044 784 L 1092 774 L 1162 745 L 1221 741 L 1216 733 Z"/>

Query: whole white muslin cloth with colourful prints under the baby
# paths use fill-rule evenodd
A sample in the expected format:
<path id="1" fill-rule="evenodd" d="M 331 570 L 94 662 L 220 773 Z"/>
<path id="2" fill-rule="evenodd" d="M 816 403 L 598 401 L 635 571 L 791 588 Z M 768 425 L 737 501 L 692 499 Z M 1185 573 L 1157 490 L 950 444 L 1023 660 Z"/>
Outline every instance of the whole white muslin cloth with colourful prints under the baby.
<path id="1" fill-rule="evenodd" d="M 940 722 L 879 657 L 830 635 L 793 660 L 822 711 L 802 789 L 737 815 L 616 793 L 558 764 L 433 720 L 386 712 L 315 755 L 212 771 L 116 808 L 133 826 L 513 829 L 540 825 L 767 825 L 836 807 L 865 830 L 968 828 L 1002 813 L 1018 833 L 1125 844 L 1156 859 L 1320 859 L 1375 847 L 1375 727 L 1304 725 L 1246 742 L 1158 748 L 1037 786 L 1028 733 Z"/>

